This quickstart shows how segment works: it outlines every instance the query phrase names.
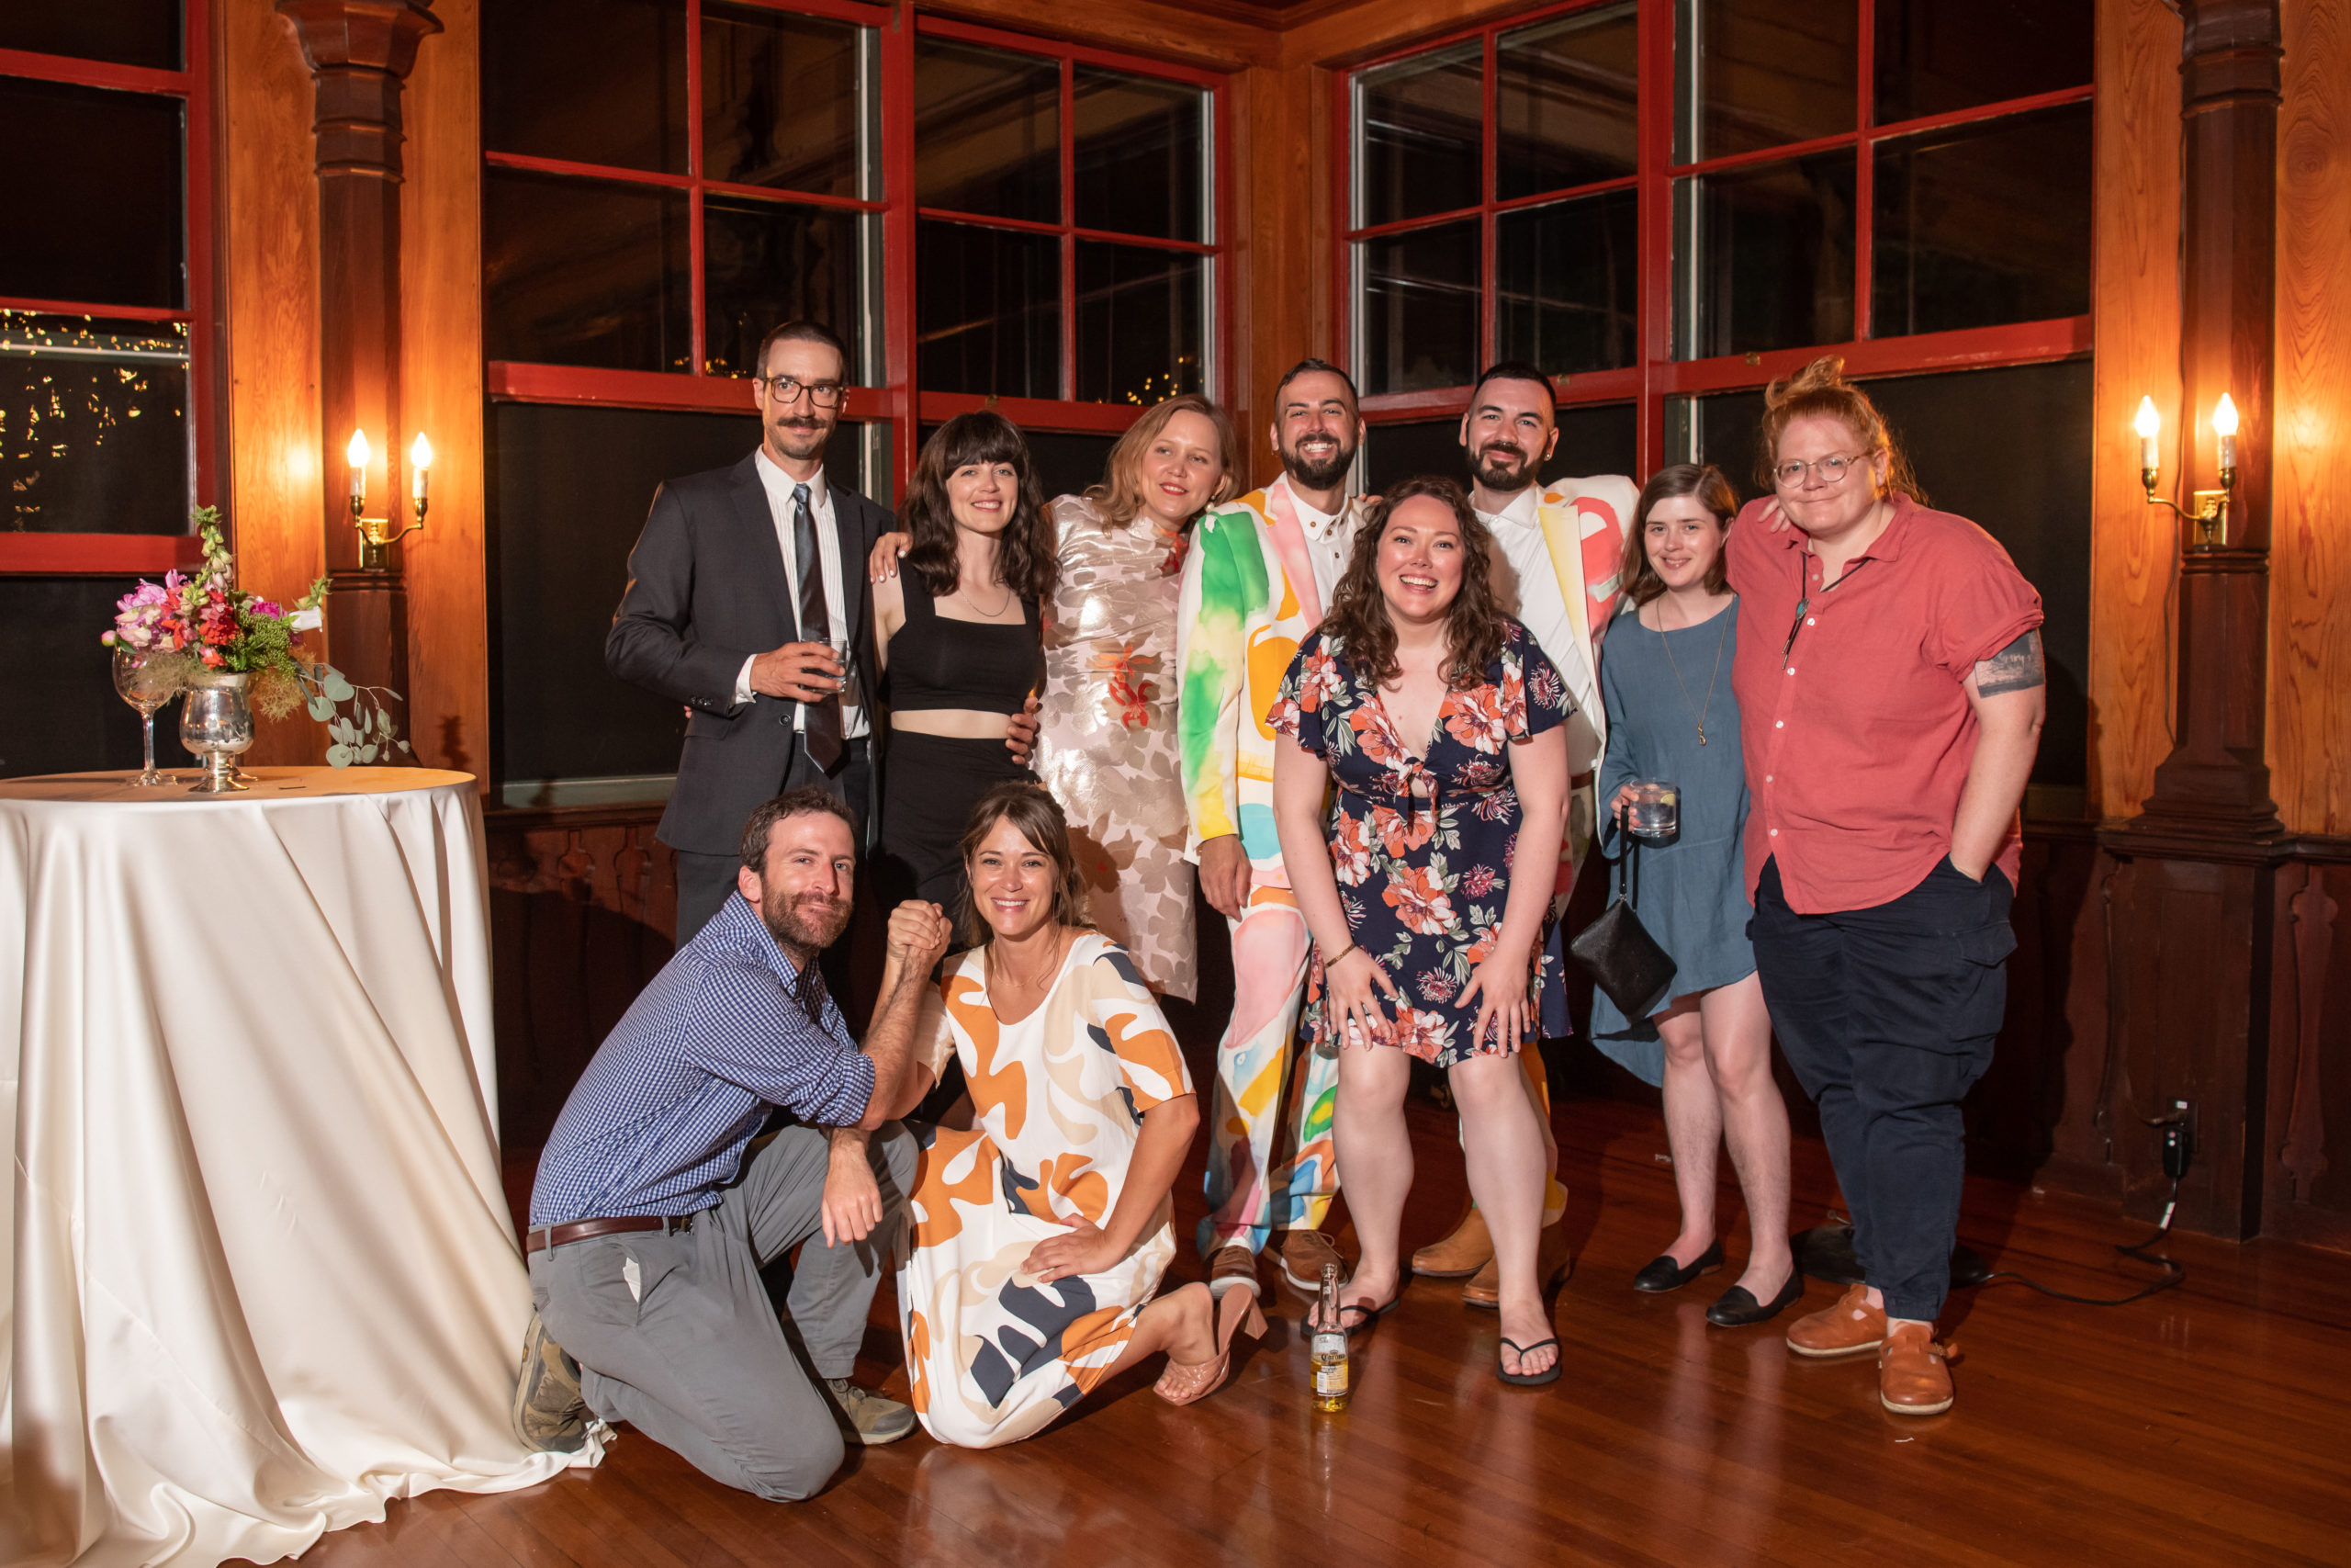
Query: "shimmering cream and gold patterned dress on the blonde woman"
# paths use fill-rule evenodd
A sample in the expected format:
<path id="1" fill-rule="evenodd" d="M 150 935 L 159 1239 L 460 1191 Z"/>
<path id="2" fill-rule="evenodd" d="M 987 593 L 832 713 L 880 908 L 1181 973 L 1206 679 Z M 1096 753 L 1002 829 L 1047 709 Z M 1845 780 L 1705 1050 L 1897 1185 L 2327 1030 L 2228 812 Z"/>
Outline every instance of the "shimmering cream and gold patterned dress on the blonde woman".
<path id="1" fill-rule="evenodd" d="M 1194 872 L 1176 757 L 1180 545 L 1150 515 L 1105 529 L 1053 501 L 1060 588 L 1044 630 L 1037 778 L 1070 818 L 1096 929 L 1166 997 L 1197 994 Z"/>

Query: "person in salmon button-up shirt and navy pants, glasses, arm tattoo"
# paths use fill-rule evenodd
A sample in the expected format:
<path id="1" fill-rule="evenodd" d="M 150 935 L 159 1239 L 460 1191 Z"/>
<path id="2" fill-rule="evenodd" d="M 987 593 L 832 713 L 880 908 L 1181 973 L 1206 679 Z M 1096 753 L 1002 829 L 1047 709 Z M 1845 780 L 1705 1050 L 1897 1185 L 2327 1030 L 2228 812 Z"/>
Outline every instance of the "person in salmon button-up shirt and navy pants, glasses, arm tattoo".
<path id="1" fill-rule="evenodd" d="M 1958 1103 L 2008 1006 L 2008 910 L 2045 708 L 2041 595 L 1928 510 L 1836 357 L 1766 397 L 1773 494 L 1730 527 L 1747 891 L 1773 1032 L 1820 1105 L 1862 1281 L 1806 1356 L 1878 1352 L 1878 1401 L 1951 1408 L 1935 1316 L 1961 1197 Z M 1794 527 L 1787 527 L 1794 524 Z"/>

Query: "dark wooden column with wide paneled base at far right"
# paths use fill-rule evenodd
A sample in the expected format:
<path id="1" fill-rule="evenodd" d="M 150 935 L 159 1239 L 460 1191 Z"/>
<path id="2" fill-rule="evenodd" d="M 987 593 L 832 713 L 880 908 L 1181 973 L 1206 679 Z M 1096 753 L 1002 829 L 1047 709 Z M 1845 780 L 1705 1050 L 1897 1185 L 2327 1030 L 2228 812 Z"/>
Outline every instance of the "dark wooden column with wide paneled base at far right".
<path id="1" fill-rule="evenodd" d="M 2179 61 L 2179 491 L 2219 489 L 2212 407 L 2236 402 L 2226 538 L 2179 529 L 2172 752 L 2139 816 L 2102 835 L 2109 886 L 2114 1095 L 2125 1206 L 2170 1192 L 2156 1135 L 2189 1103 L 2196 1159 L 2179 1225 L 2262 1222 L 2273 879 L 2288 853 L 2269 797 L 2269 510 L 2276 360 L 2278 0 L 2189 0 Z"/>

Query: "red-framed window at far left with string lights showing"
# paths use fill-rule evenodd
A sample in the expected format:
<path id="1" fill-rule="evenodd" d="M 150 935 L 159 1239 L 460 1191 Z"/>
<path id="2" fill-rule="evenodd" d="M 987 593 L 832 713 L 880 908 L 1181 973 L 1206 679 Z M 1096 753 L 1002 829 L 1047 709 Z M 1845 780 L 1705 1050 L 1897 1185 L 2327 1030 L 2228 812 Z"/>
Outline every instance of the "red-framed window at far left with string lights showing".
<path id="1" fill-rule="evenodd" d="M 205 5 L 9 7 L 0 576 L 160 574 L 214 491 Z M 38 148 L 38 153 L 35 153 Z M 92 200 L 103 193 L 103 200 Z"/>

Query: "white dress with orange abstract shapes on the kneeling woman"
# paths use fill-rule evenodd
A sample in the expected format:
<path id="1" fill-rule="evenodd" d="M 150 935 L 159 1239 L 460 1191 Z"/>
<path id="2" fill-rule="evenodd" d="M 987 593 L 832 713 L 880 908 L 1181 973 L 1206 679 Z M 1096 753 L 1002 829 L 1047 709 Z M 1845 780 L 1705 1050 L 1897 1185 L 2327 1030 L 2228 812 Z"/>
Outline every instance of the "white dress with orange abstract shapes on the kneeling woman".
<path id="1" fill-rule="evenodd" d="M 994 1448 L 1049 1427 L 1126 1349 L 1176 1258 L 1171 1204 L 1105 1274 L 1039 1284 L 1030 1248 L 1110 1218 L 1143 1112 L 1192 1093 L 1183 1051 L 1126 950 L 1086 931 L 1044 1004 L 999 1023 L 985 950 L 947 961 L 931 1067 L 964 1063 L 976 1126 L 917 1128 L 898 1326 L 915 1415 L 940 1443 Z"/>

